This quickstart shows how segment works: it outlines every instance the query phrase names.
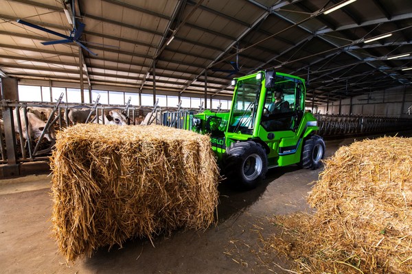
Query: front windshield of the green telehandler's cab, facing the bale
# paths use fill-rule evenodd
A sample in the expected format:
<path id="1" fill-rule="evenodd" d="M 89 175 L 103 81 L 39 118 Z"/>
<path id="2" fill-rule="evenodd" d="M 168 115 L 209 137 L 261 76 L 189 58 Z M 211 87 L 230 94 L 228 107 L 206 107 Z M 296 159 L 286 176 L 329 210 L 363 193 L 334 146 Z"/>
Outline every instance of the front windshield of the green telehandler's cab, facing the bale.
<path id="1" fill-rule="evenodd" d="M 238 81 L 238 89 L 233 98 L 229 132 L 252 134 L 260 95 L 260 80 L 255 77 Z"/>

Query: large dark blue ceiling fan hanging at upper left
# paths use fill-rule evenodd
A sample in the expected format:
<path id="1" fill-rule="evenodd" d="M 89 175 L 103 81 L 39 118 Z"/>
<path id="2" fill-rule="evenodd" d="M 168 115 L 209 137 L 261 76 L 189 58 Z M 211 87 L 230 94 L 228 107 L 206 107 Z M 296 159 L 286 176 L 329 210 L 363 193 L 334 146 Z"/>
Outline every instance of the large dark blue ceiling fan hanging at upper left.
<path id="1" fill-rule="evenodd" d="M 49 34 L 53 34 L 55 36 L 59 36 L 61 38 L 64 38 L 62 40 L 54 40 L 54 41 L 48 41 L 48 42 L 41 42 L 43 45 L 56 45 L 56 44 L 65 44 L 65 43 L 69 43 L 69 42 L 75 42 L 77 45 L 79 45 L 80 47 L 82 47 L 83 49 L 85 49 L 86 51 L 88 51 L 89 53 L 91 53 L 92 55 L 98 55 L 96 53 L 94 53 L 93 51 L 91 51 L 90 49 L 88 49 L 86 46 L 84 46 L 82 44 L 82 41 L 80 41 L 80 37 L 83 34 L 83 30 L 84 30 L 84 23 L 77 21 L 76 20 L 76 16 L 75 16 L 75 10 L 74 10 L 74 0 L 71 3 L 71 7 L 72 7 L 72 15 L 73 15 L 73 19 L 69 20 L 69 23 L 72 23 L 73 25 L 73 29 L 70 32 L 70 35 L 67 36 L 65 34 L 60 34 L 58 32 L 54 32 L 51 29 L 46 29 L 45 27 L 41 27 L 39 25 L 35 25 L 26 21 L 23 21 L 21 19 L 17 19 L 17 23 L 21 23 L 23 25 L 27 25 L 28 27 L 34 27 L 35 29 L 39 29 L 43 32 L 47 32 Z M 67 12 L 67 10 L 65 10 L 65 12 Z M 66 13 L 66 15 L 68 15 Z M 67 16 L 67 18 L 69 19 L 70 17 Z M 70 22 L 71 21 L 71 22 Z"/>

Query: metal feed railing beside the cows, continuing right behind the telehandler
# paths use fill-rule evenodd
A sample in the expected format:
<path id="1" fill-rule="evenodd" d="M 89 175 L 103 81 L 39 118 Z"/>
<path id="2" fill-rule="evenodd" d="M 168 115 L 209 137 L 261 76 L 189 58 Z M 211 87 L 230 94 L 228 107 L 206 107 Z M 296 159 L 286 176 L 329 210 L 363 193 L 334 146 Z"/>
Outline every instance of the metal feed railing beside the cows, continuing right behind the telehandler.
<path id="1" fill-rule="evenodd" d="M 161 110 L 154 107 L 134 107 L 130 101 L 126 105 L 99 105 L 98 99 L 93 104 L 78 105 L 63 103 L 62 97 L 56 103 L 17 103 L 7 100 L 1 102 L 0 130 L 0 164 L 16 166 L 23 162 L 49 160 L 54 147 L 54 140 L 47 140 L 51 133 L 71 126 L 69 111 L 72 108 L 84 108 L 89 112 L 88 122 L 93 122 L 93 116 L 103 117 L 108 110 L 122 110 L 129 119 L 130 125 L 140 125 L 144 113 L 148 113 L 146 124 L 159 124 L 178 129 L 190 129 L 193 114 L 198 110 L 172 109 Z M 30 112 L 33 108 L 46 108 L 49 116 L 43 121 L 40 134 L 32 135 L 30 129 Z M 376 116 L 345 116 L 315 114 L 321 136 L 344 136 L 395 132 L 412 129 L 412 119 L 400 119 Z M 149 118 L 148 118 L 149 117 Z M 103 120 L 103 119 L 102 119 Z M 147 122 L 146 121 L 146 122 Z"/>

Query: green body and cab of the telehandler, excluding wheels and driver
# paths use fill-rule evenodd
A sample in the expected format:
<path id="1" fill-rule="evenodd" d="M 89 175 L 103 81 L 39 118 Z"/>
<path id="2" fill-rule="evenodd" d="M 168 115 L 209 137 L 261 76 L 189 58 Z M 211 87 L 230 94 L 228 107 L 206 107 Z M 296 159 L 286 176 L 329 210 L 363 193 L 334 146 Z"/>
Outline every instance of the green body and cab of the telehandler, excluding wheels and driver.
<path id="1" fill-rule="evenodd" d="M 312 113 L 305 112 L 304 79 L 260 71 L 235 80 L 230 112 L 205 111 L 196 114 L 196 125 L 192 126 L 192 130 L 210 134 L 218 162 L 231 143 L 254 140 L 266 150 L 269 167 L 299 163 L 304 138 L 319 129 Z M 284 114 L 265 114 L 265 109 L 268 110 L 270 105 L 268 101 L 275 92 L 275 84 L 266 85 L 268 81 L 287 90 L 284 94 L 292 107 Z"/>

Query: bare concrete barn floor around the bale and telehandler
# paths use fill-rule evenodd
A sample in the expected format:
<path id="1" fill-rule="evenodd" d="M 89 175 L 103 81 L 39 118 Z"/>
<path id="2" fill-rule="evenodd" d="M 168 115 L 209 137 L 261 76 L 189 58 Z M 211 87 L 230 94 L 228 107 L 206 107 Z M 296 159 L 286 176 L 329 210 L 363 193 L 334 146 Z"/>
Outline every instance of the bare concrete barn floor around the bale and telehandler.
<path id="1" fill-rule="evenodd" d="M 326 156 L 353 140 L 327 141 Z M 284 260 L 273 254 L 263 260 L 255 253 L 260 239 L 275 233 L 268 217 L 311 210 L 306 196 L 321 171 L 297 166 L 272 169 L 249 192 L 235 192 L 221 184 L 216 226 L 158 236 L 154 247 L 146 239 L 129 240 L 122 249 L 102 248 L 74 263 L 58 253 L 50 236 L 51 177 L 3 179 L 0 273 L 288 273 L 282 270 L 288 265 Z"/>

